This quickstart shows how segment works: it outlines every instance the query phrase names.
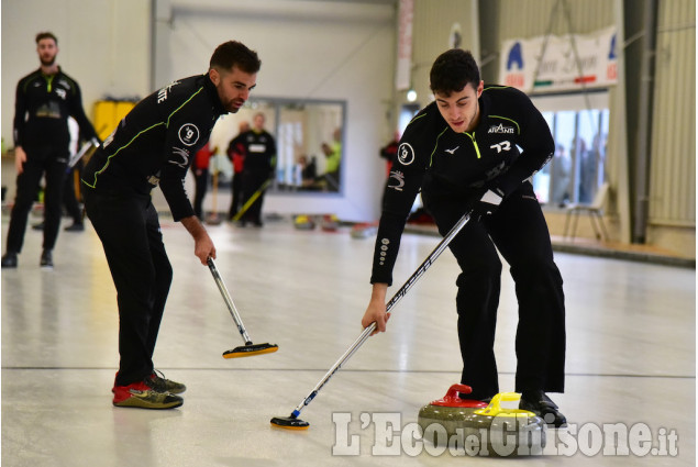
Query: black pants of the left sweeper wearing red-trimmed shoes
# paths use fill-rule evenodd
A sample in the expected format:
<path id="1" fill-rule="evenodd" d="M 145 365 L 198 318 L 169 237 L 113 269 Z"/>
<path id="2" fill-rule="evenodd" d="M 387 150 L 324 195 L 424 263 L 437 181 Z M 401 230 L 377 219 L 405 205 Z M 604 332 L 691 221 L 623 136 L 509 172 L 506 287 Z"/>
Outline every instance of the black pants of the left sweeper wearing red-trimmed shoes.
<path id="1" fill-rule="evenodd" d="M 153 373 L 153 352 L 173 269 L 149 196 L 97 193 L 85 189 L 85 207 L 117 287 L 119 354 L 115 385 Z"/>

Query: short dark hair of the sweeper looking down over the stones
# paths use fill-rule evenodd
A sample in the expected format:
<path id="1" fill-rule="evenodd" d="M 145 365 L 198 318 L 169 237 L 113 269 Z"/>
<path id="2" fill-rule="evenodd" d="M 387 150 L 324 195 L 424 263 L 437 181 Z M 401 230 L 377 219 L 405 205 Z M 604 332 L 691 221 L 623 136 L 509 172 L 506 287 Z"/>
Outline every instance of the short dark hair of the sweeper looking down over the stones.
<path id="1" fill-rule="evenodd" d="M 475 89 L 480 85 L 480 70 L 470 51 L 452 48 L 434 62 L 429 73 L 432 92 L 451 96 L 462 91 L 468 84 Z"/>

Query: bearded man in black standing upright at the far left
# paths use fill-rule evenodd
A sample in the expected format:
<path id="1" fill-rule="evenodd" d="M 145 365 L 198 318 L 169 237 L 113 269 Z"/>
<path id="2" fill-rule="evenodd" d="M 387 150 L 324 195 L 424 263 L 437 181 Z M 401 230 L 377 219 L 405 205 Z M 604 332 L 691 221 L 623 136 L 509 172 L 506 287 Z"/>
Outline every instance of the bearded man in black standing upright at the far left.
<path id="1" fill-rule="evenodd" d="M 77 81 L 58 64 L 58 40 L 51 32 L 36 34 L 41 66 L 20 80 L 14 102 L 14 166 L 16 198 L 10 216 L 3 268 L 18 266 L 29 212 L 43 176 L 44 243 L 40 265 L 53 268 L 53 249 L 60 227 L 64 180 L 70 159 L 68 118 L 73 116 L 84 141 L 99 140 L 82 109 Z"/>

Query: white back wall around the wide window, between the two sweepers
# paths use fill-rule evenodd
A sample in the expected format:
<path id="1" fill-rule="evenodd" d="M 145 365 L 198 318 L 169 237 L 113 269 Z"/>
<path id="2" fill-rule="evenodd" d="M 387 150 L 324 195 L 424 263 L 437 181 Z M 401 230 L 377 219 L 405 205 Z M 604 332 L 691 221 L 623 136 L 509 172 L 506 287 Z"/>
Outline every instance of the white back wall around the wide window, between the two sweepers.
<path id="1" fill-rule="evenodd" d="M 268 194 L 266 212 L 377 219 L 385 181 L 378 151 L 391 134 L 386 118 L 391 108 L 395 55 L 391 5 L 158 0 L 157 11 L 157 86 L 204 73 L 215 46 L 237 40 L 257 51 L 262 59 L 253 96 L 346 100 L 343 194 Z M 231 120 L 233 115 L 222 124 L 231 125 Z M 229 193 L 220 192 L 219 210 L 226 210 L 229 202 Z"/>

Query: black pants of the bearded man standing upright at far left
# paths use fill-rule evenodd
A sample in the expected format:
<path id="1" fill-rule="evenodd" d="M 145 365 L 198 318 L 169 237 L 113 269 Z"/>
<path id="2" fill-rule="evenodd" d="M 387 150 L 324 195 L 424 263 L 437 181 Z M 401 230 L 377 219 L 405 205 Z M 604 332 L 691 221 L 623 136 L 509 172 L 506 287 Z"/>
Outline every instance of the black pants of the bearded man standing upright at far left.
<path id="1" fill-rule="evenodd" d="M 7 251 L 20 253 L 24 244 L 26 221 L 32 210 L 42 176 L 44 189 L 44 249 L 53 249 L 60 227 L 63 182 L 66 176 L 68 148 L 56 151 L 53 146 L 26 147 L 26 162 L 16 177 L 16 198 L 8 227 Z"/>

